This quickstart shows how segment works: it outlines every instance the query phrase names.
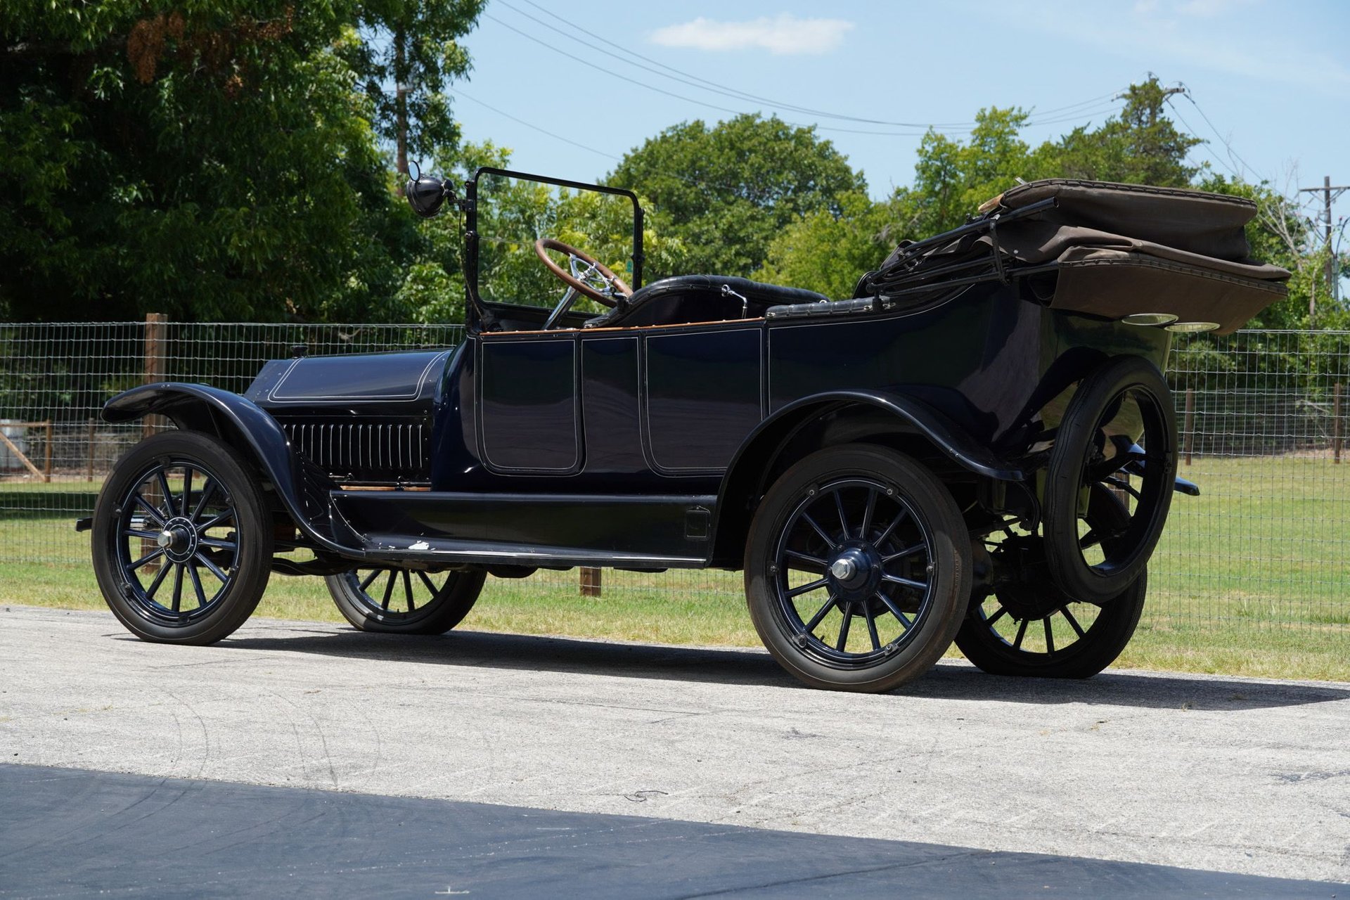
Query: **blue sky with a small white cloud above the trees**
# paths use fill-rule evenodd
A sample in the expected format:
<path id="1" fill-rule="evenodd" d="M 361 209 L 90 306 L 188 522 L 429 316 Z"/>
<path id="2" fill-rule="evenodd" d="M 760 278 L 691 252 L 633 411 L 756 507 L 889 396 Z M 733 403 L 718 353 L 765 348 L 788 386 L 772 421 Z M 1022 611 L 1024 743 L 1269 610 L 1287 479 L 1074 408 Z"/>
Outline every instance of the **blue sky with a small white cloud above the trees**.
<path id="1" fill-rule="evenodd" d="M 1103 121 L 1112 96 L 1153 72 L 1189 89 L 1174 101 L 1208 140 L 1196 162 L 1281 189 L 1324 174 L 1342 185 L 1347 38 L 1350 3 L 1334 0 L 490 0 L 466 40 L 474 72 L 454 85 L 455 115 L 518 169 L 590 181 L 674 123 L 776 112 L 819 125 L 884 196 L 911 182 L 925 124 L 961 136 L 981 107 L 1019 105 L 1037 143 Z M 1335 215 L 1350 215 L 1350 193 Z"/>

